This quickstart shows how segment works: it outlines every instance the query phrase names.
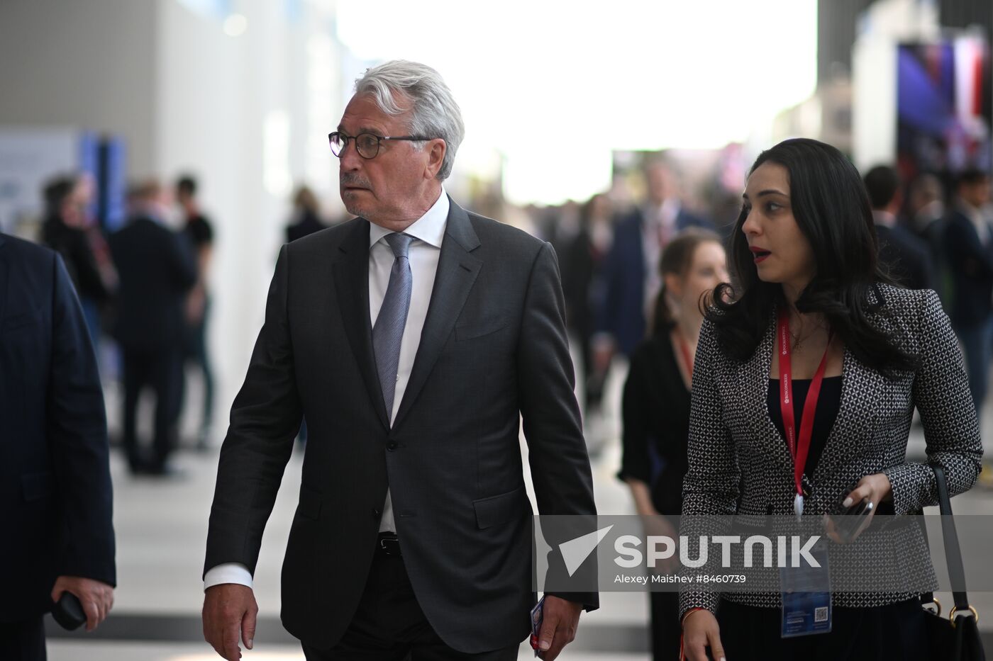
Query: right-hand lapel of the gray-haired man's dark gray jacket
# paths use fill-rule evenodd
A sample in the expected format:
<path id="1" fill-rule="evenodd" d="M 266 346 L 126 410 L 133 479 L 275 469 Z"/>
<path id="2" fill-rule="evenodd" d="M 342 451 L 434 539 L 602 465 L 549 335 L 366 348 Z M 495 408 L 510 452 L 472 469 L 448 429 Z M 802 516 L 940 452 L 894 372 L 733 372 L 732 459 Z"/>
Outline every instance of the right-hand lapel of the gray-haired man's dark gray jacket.
<path id="1" fill-rule="evenodd" d="M 417 347 L 414 366 L 410 372 L 407 389 L 400 401 L 400 409 L 393 420 L 395 428 L 410 410 L 424 387 L 428 375 L 434 368 L 438 355 L 448 340 L 455 321 L 466 305 L 469 292 L 483 266 L 483 260 L 472 254 L 480 245 L 480 239 L 469 221 L 466 211 L 449 198 L 448 220 L 445 225 L 445 240 L 438 258 L 438 271 L 435 274 L 431 303 L 421 331 L 421 341 Z M 368 312 L 365 313 L 368 319 Z"/>

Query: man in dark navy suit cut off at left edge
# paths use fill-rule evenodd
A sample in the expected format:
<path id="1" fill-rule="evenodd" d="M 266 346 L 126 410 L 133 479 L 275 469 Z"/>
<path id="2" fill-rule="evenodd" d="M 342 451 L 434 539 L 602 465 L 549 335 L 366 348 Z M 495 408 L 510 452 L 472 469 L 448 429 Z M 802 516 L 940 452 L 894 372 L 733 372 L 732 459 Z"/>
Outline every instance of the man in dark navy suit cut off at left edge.
<path id="1" fill-rule="evenodd" d="M 86 628 L 116 583 L 107 424 L 96 358 L 62 258 L 0 234 L 0 659 L 44 661 L 65 592 Z"/>

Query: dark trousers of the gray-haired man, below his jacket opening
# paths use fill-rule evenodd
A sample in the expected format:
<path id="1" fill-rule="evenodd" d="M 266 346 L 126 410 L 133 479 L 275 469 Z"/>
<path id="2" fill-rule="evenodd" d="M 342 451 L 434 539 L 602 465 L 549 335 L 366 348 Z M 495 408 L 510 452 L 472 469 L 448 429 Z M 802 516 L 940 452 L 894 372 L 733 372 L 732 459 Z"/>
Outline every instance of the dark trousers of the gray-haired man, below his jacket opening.
<path id="1" fill-rule="evenodd" d="M 481 654 L 452 649 L 424 616 L 403 559 L 377 553 L 342 640 L 330 650 L 303 648 L 307 661 L 513 661 L 518 646 Z"/>

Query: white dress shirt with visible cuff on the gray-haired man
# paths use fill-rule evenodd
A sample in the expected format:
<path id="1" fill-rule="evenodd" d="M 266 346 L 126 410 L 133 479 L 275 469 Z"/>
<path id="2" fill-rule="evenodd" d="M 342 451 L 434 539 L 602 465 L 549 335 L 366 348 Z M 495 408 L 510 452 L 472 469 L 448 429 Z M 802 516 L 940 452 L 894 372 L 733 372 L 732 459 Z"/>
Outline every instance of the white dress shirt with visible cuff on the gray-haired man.
<path id="1" fill-rule="evenodd" d="M 403 393 L 410 380 L 410 371 L 414 366 L 414 356 L 421 343 L 421 331 L 424 330 L 424 320 L 428 316 L 428 304 L 431 302 L 431 292 L 434 290 L 435 274 L 438 271 L 438 260 L 441 257 L 441 243 L 445 237 L 445 227 L 448 224 L 448 196 L 442 188 L 441 195 L 427 212 L 412 225 L 403 230 L 404 234 L 413 236 L 410 243 L 410 273 L 413 277 L 413 287 L 410 295 L 410 309 L 407 312 L 407 323 L 403 327 L 403 338 L 400 340 L 400 360 L 397 364 L 396 391 L 393 395 L 393 410 L 389 412 L 389 422 L 392 425 L 396 412 L 400 410 Z M 383 240 L 386 234 L 392 232 L 376 224 L 369 224 L 369 321 L 375 326 L 375 320 L 382 308 L 382 300 L 386 296 L 389 285 L 389 272 L 393 268 L 393 251 Z M 395 531 L 393 521 L 393 503 L 389 491 L 386 491 L 386 502 L 382 508 L 382 518 L 379 520 L 379 531 Z M 237 583 L 242 586 L 252 586 L 251 573 L 241 563 L 223 563 L 208 570 L 204 576 L 204 590 L 222 583 Z"/>

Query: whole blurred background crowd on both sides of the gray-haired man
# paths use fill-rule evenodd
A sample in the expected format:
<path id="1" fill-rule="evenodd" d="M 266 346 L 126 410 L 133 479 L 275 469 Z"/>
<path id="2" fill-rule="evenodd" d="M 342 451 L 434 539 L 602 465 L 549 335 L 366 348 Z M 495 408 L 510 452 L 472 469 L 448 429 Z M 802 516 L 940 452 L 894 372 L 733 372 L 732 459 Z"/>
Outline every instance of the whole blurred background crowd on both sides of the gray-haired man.
<path id="1" fill-rule="evenodd" d="M 665 247 L 690 227 L 715 232 L 726 244 L 734 223 L 729 216 L 734 207 L 726 196 L 716 196 L 709 208 L 699 203 L 691 208 L 685 200 L 702 196 L 687 190 L 679 164 L 665 155 L 648 158 L 640 174 L 640 201 L 621 183 L 582 202 L 509 211 L 500 202 L 495 213 L 517 219 L 556 250 L 587 420 L 601 410 L 615 358 L 626 365 L 639 343 L 651 336 Z M 864 181 L 881 262 L 900 284 L 938 292 L 964 349 L 980 410 L 993 360 L 989 175 L 970 170 L 947 186 L 924 174 L 907 183 L 897 168 L 887 165 L 866 172 Z M 172 189 L 156 181 L 134 184 L 127 195 L 127 220 L 110 234 L 89 212 L 93 196 L 88 176 L 52 180 L 44 191 L 40 238 L 65 259 L 94 346 L 106 333 L 120 348 L 121 444 L 129 465 L 135 473 L 168 473 L 169 453 L 179 443 L 186 366 L 201 379 L 203 393 L 192 444 L 206 449 L 211 441 L 215 384 L 207 337 L 213 307 L 213 223 L 200 206 L 198 182 L 190 176 L 180 177 Z M 492 205 L 478 201 L 482 207 Z M 300 186 L 292 196 L 285 240 L 333 224 L 323 217 L 321 206 L 310 188 Z M 141 450 L 136 431 L 138 400 L 146 388 L 156 394 L 149 452 Z M 306 423 L 300 438 L 306 440 Z M 591 438 L 591 451 L 606 440 Z"/>

